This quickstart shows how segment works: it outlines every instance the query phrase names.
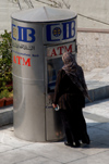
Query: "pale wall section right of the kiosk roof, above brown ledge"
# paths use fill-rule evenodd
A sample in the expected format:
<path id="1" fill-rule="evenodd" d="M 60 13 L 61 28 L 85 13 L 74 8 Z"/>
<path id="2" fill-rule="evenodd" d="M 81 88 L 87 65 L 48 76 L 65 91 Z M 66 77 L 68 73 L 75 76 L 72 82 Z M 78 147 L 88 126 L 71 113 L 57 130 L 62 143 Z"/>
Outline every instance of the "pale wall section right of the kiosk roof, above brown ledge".
<path id="1" fill-rule="evenodd" d="M 78 15 L 78 27 L 109 29 L 109 0 L 70 0 L 70 2 L 74 12 L 99 21 Z"/>

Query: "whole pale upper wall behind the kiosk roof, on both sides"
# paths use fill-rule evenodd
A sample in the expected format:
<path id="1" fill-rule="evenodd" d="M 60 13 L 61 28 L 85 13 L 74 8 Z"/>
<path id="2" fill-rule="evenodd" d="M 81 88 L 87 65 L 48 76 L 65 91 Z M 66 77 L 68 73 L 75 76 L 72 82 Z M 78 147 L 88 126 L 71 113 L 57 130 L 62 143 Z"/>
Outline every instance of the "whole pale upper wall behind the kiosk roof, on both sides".
<path id="1" fill-rule="evenodd" d="M 19 7 L 11 1 L 12 0 L 0 0 L 0 33 L 3 33 L 4 29 L 11 30 L 11 13 L 20 10 Z M 45 1 L 47 2 L 47 0 Z M 78 13 L 78 28 L 109 29 L 109 0 L 65 0 L 65 2 L 68 1 L 71 4 L 71 10 Z M 43 5 L 35 0 L 32 0 L 32 2 L 35 7 Z M 27 9 L 24 3 L 22 4 L 24 9 Z M 97 20 L 98 22 L 87 17 Z"/>

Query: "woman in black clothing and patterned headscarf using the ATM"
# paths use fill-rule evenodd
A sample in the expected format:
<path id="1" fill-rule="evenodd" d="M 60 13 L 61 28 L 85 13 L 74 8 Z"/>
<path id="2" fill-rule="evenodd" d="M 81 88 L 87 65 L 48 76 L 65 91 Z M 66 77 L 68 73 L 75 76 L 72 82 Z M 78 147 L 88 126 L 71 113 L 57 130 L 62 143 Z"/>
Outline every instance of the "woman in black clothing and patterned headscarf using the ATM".
<path id="1" fill-rule="evenodd" d="M 64 66 L 58 72 L 52 106 L 60 108 L 59 113 L 66 137 L 64 143 L 70 147 L 80 147 L 81 140 L 89 144 L 82 112 L 85 106 L 85 97 L 89 99 L 83 70 L 70 52 L 63 53 L 62 61 Z"/>

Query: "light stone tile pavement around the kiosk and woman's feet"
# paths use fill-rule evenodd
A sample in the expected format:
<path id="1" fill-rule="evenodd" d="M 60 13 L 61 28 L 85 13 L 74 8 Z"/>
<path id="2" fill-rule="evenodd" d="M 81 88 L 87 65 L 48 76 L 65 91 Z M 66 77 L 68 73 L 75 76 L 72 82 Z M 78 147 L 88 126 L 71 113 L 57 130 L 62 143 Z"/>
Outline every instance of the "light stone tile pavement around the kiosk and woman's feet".
<path id="1" fill-rule="evenodd" d="M 14 136 L 12 125 L 0 128 L 0 164 L 109 164 L 109 99 L 84 109 L 90 146 L 29 142 Z"/>

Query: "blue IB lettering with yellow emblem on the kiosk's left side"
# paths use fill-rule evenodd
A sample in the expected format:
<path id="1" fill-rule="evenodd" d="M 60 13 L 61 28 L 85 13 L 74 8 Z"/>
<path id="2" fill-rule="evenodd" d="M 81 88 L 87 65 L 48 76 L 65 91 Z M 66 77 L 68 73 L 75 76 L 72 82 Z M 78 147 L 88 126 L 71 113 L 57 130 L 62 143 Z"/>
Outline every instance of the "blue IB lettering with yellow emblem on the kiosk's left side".
<path id="1" fill-rule="evenodd" d="M 12 38 L 17 41 L 34 42 L 35 29 L 12 24 Z"/>

